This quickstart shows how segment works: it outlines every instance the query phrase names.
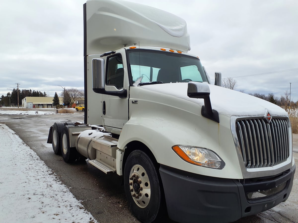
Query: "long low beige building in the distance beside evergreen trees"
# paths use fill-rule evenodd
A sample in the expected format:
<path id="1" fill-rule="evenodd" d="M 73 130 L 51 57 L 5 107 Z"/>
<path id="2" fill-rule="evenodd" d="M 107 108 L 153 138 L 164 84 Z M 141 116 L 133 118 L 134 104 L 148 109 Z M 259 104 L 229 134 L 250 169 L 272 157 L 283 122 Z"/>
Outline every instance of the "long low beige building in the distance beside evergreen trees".
<path id="1" fill-rule="evenodd" d="M 53 106 L 54 97 L 26 97 L 22 100 L 22 107 L 32 108 L 55 108 Z M 63 98 L 59 97 L 60 105 L 63 104 Z"/>

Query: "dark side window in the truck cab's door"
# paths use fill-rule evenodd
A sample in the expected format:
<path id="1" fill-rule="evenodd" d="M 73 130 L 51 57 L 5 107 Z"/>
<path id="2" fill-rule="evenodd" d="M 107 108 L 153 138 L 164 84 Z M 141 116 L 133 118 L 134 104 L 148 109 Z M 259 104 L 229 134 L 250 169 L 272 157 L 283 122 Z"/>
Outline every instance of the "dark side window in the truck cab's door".
<path id="1" fill-rule="evenodd" d="M 122 56 L 117 54 L 108 58 L 107 73 L 105 78 L 106 85 L 114 85 L 118 89 L 123 88 L 124 69 Z"/>

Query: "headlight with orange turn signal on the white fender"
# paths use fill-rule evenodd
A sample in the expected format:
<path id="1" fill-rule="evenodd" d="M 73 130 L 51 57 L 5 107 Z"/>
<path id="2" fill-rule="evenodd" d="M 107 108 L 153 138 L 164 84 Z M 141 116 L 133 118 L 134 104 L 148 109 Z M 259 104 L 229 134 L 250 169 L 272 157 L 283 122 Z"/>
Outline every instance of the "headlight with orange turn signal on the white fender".
<path id="1" fill-rule="evenodd" d="M 215 152 L 206 148 L 178 145 L 173 146 L 172 149 L 191 164 L 215 169 L 222 169 L 225 166 L 224 161 Z"/>

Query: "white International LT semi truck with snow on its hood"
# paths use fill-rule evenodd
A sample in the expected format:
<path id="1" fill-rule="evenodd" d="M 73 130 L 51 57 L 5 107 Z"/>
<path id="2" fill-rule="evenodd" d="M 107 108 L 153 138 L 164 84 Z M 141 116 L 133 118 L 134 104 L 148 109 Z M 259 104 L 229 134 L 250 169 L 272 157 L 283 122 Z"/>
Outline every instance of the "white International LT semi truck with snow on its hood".
<path id="1" fill-rule="evenodd" d="M 54 123 L 66 162 L 122 175 L 132 213 L 156 221 L 232 222 L 290 195 L 287 112 L 215 85 L 187 52 L 186 22 L 116 0 L 84 4 L 84 123 Z"/>

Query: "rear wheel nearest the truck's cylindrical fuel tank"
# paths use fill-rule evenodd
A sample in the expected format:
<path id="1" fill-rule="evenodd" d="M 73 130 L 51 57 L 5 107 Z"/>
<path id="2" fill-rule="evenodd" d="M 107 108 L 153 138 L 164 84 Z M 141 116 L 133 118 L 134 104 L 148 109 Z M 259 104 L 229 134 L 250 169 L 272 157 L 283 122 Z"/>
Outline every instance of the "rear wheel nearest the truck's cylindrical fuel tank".
<path id="1" fill-rule="evenodd" d="M 66 163 L 72 163 L 77 159 L 78 152 L 75 147 L 70 147 L 68 128 L 72 125 L 66 125 L 62 129 L 60 137 L 61 154 Z"/>

